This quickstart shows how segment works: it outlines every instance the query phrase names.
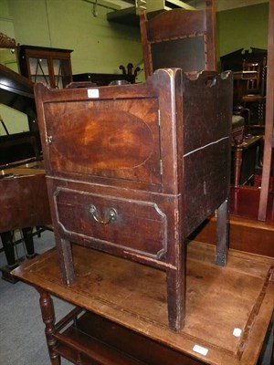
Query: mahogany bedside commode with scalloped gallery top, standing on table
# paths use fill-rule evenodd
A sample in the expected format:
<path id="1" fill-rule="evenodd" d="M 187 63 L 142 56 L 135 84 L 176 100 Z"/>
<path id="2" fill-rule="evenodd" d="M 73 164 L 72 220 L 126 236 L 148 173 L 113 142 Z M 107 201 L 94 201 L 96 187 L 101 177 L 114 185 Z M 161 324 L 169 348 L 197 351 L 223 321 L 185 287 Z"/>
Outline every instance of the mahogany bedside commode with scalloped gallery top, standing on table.
<path id="1" fill-rule="evenodd" d="M 71 241 L 156 266 L 170 326 L 182 328 L 185 239 L 216 209 L 216 263 L 227 260 L 232 75 L 167 69 L 143 84 L 35 94 L 64 283 Z"/>

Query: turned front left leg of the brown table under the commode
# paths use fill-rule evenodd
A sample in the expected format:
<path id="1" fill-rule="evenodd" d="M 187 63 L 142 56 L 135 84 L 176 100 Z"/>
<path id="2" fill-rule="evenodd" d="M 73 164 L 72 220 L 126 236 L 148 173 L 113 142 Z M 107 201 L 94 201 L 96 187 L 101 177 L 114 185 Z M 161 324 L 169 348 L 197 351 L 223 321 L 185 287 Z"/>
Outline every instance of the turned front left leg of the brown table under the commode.
<path id="1" fill-rule="evenodd" d="M 56 331 L 55 328 L 55 311 L 52 298 L 48 294 L 46 290 L 42 290 L 37 288 L 37 291 L 40 294 L 40 308 L 41 315 L 43 318 L 43 322 L 45 323 L 45 333 L 47 339 L 47 349 L 51 361 L 51 365 L 60 365 L 60 357 L 55 352 L 55 348 L 57 345 L 57 339 L 54 339 L 53 334 Z"/>

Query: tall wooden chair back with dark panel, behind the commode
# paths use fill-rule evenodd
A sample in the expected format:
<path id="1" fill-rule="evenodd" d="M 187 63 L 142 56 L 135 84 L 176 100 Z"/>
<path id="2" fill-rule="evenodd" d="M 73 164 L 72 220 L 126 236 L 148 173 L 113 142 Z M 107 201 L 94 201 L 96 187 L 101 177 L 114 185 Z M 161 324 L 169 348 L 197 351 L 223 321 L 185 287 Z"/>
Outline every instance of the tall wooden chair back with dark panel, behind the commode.
<path id="1" fill-rule="evenodd" d="M 158 68 L 216 70 L 215 2 L 205 10 L 173 9 L 148 20 L 140 15 L 145 76 Z"/>

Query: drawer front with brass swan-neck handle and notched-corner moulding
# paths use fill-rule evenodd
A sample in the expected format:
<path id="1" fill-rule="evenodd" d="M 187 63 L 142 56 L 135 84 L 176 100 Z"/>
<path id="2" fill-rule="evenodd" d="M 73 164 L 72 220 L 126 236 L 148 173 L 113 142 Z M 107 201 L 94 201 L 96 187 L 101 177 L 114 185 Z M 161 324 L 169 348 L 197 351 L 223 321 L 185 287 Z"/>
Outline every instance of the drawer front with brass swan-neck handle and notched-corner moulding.
<path id="1" fill-rule="evenodd" d="M 166 252 L 166 216 L 155 203 L 64 188 L 54 199 L 60 234 L 69 240 L 157 259 Z"/>

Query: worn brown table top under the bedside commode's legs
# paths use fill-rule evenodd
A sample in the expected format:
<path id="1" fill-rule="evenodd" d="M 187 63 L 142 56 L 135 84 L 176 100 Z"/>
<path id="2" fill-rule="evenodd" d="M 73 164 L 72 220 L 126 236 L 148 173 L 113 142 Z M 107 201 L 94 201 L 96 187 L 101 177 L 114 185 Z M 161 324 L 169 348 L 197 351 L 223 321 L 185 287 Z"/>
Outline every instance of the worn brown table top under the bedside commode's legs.
<path id="1" fill-rule="evenodd" d="M 257 363 L 273 314 L 274 259 L 230 250 L 227 266 L 216 266 L 214 245 L 190 242 L 185 325 L 177 333 L 168 328 L 164 272 L 79 245 L 73 259 L 70 287 L 55 248 L 12 274 L 205 363 Z"/>

